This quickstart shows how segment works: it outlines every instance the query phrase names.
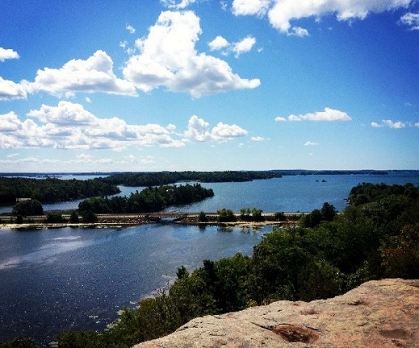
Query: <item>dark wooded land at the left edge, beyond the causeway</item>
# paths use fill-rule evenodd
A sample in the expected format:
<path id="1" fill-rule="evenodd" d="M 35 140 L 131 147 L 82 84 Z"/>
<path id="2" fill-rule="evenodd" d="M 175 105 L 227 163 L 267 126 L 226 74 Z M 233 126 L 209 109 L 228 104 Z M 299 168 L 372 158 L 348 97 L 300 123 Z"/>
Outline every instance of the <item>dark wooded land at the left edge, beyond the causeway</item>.
<path id="1" fill-rule="evenodd" d="M 0 205 L 14 204 L 16 198 L 32 198 L 41 203 L 55 203 L 119 192 L 119 188 L 114 184 L 104 182 L 100 178 L 59 180 L 0 177 Z"/>

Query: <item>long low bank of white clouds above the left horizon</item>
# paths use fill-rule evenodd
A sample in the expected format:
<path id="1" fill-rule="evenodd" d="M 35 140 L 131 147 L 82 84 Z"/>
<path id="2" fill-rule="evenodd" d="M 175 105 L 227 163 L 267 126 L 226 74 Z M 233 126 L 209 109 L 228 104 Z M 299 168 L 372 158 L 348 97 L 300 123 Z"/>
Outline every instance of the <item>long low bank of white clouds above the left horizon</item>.
<path id="1" fill-rule="evenodd" d="M 224 142 L 247 131 L 236 124 L 210 124 L 194 115 L 187 130 L 174 124 L 127 124 L 119 117 L 100 118 L 78 103 L 59 101 L 30 110 L 21 121 L 13 112 L 0 115 L 0 148 L 52 147 L 78 150 L 122 150 L 130 146 L 184 147 L 191 141 Z"/>

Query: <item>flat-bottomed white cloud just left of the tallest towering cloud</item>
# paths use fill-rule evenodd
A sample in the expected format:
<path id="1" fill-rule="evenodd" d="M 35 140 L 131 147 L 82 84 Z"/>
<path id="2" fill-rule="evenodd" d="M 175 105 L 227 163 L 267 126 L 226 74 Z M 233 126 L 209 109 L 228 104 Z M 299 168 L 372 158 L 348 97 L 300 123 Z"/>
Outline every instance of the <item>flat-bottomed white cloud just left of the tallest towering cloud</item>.
<path id="1" fill-rule="evenodd" d="M 113 61 L 98 50 L 87 60 L 72 59 L 62 68 L 38 70 L 34 82 L 22 82 L 27 92 L 47 92 L 56 96 L 73 95 L 75 92 L 104 92 L 135 96 L 131 82 L 117 78 Z"/>

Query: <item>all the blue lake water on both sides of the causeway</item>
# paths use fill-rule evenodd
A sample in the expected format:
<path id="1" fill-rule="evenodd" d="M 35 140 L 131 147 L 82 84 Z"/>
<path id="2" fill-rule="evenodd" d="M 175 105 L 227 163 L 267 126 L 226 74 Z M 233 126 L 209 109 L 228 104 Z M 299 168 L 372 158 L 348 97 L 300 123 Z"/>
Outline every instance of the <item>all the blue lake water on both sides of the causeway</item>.
<path id="1" fill-rule="evenodd" d="M 215 196 L 169 210 L 215 212 L 260 208 L 264 212 L 305 212 L 325 201 L 344 210 L 344 198 L 360 182 L 419 184 L 418 172 L 388 175 L 296 175 L 253 182 L 203 184 Z M 123 187 L 123 194 L 135 189 Z M 57 203 L 51 210 L 61 209 Z M 45 205 L 44 205 L 45 208 Z M 263 234 L 216 226 L 149 224 L 126 229 L 0 230 L 0 340 L 31 336 L 44 345 L 68 329 L 101 330 L 117 311 L 135 307 L 174 279 L 179 266 L 190 270 L 203 259 L 236 252 L 251 254 Z"/>

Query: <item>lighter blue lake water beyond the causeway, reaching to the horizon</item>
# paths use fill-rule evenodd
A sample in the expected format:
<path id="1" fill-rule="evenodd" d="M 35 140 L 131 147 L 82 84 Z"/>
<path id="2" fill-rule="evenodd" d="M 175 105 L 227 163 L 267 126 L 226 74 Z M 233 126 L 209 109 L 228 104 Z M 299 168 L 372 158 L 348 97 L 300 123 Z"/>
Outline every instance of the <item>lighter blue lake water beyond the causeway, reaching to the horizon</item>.
<path id="1" fill-rule="evenodd" d="M 89 179 L 96 175 L 83 175 L 78 178 Z M 61 179 L 73 179 L 64 175 Z M 214 190 L 214 197 L 200 203 L 169 208 L 168 211 L 216 212 L 229 208 L 240 212 L 241 208 L 262 209 L 264 212 L 311 212 L 321 208 L 323 203 L 335 205 L 337 210 L 345 208 L 344 198 L 352 187 L 362 182 L 385 184 L 419 184 L 419 171 L 390 171 L 387 175 L 284 175 L 270 180 L 251 182 L 202 183 L 203 187 Z M 184 183 L 178 183 L 184 184 Z M 119 196 L 129 196 L 131 192 L 141 191 L 144 187 L 119 187 Z M 80 201 L 43 204 L 45 211 L 77 209 Z M 0 207 L 0 213 L 8 213 L 12 207 Z"/>

